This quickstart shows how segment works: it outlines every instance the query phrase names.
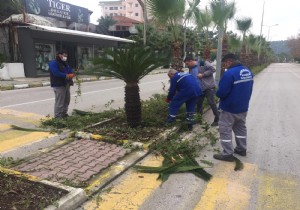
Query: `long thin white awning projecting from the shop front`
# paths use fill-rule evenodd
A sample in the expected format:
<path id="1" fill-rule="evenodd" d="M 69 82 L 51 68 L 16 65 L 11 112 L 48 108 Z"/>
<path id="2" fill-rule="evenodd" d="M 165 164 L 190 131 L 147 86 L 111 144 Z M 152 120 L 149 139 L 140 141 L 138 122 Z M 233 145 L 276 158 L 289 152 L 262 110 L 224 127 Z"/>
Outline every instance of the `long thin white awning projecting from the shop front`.
<path id="1" fill-rule="evenodd" d="M 50 26 L 41 26 L 36 24 L 29 24 L 28 26 L 19 26 L 19 27 L 26 27 L 30 28 L 31 30 L 39 30 L 39 31 L 47 31 L 52 33 L 58 33 L 58 34 L 66 34 L 66 35 L 75 35 L 75 36 L 81 36 L 81 37 L 89 37 L 94 39 L 101 39 L 101 40 L 109 40 L 109 41 L 116 41 L 116 42 L 127 42 L 127 43 L 134 43 L 135 41 L 130 39 L 124 39 L 120 37 L 115 36 L 109 36 L 104 34 L 96 34 L 91 32 L 84 32 L 84 31 L 75 31 L 65 28 L 56 28 L 56 27 L 50 27 Z"/>

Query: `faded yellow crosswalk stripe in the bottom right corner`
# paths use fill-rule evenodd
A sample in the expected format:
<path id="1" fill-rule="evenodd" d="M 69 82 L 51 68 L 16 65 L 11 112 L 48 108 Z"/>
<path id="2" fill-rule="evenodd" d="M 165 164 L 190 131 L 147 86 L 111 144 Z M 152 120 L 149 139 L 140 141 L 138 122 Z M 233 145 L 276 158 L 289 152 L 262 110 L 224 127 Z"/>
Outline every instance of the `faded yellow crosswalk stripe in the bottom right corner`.
<path id="1" fill-rule="evenodd" d="M 257 210 L 300 210 L 299 198 L 299 179 L 275 174 L 259 177 Z"/>

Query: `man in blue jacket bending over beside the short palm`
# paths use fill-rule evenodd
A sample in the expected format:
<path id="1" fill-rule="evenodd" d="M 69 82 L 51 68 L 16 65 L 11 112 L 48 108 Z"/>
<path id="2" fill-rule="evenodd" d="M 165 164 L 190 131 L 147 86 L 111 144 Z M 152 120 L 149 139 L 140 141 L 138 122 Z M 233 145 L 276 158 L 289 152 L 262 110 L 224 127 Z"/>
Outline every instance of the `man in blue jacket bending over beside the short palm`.
<path id="1" fill-rule="evenodd" d="M 176 115 L 183 103 L 186 104 L 186 119 L 189 130 L 193 128 L 195 106 L 201 95 L 198 81 L 189 73 L 177 72 L 171 69 L 168 73 L 170 78 L 170 89 L 167 96 L 169 104 L 168 123 L 176 120 Z"/>

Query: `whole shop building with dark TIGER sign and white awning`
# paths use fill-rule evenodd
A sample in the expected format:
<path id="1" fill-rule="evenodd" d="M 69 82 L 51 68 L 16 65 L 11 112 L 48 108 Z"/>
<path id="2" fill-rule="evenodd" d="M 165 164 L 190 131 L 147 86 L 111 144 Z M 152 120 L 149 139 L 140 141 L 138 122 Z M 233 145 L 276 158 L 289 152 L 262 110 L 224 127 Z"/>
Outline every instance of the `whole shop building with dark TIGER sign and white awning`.
<path id="1" fill-rule="evenodd" d="M 65 49 L 68 63 L 81 73 L 90 70 L 91 59 L 105 47 L 132 42 L 128 39 L 93 33 L 86 8 L 59 0 L 24 0 L 26 13 L 12 15 L 0 23 L 0 53 L 7 63 L 22 63 L 26 77 L 49 75 L 48 63 Z"/>

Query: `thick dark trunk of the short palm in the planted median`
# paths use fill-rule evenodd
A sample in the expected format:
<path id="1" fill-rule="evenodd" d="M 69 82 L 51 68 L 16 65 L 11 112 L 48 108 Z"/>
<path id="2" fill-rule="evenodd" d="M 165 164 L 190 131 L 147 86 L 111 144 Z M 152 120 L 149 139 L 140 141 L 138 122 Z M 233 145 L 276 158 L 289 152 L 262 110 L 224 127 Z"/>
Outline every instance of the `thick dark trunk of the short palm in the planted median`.
<path id="1" fill-rule="evenodd" d="M 125 113 L 130 127 L 141 124 L 142 111 L 140 100 L 140 88 L 138 83 L 126 83 L 125 86 Z"/>

